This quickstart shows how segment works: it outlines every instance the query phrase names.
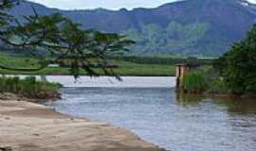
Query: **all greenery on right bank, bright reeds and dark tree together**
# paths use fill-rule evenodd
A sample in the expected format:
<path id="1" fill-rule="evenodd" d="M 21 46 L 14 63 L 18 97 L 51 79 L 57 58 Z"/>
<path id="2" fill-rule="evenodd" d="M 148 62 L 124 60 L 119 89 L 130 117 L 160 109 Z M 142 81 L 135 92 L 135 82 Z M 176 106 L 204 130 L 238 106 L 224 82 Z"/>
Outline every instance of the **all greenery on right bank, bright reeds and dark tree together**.
<path id="1" fill-rule="evenodd" d="M 213 61 L 213 69 L 186 75 L 182 88 L 192 93 L 255 94 L 256 25 L 245 40 L 235 43 L 222 58 Z"/>

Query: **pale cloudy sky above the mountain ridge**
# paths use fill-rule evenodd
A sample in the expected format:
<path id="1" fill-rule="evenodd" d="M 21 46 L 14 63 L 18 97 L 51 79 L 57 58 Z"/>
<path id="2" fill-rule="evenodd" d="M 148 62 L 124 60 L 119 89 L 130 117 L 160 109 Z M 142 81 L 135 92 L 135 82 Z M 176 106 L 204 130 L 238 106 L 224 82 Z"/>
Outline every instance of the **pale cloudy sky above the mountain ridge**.
<path id="1" fill-rule="evenodd" d="M 155 8 L 177 0 L 30 0 L 51 8 L 86 9 L 86 8 Z M 225 1 L 225 0 L 224 0 Z M 256 0 L 248 0 L 256 3 Z"/>

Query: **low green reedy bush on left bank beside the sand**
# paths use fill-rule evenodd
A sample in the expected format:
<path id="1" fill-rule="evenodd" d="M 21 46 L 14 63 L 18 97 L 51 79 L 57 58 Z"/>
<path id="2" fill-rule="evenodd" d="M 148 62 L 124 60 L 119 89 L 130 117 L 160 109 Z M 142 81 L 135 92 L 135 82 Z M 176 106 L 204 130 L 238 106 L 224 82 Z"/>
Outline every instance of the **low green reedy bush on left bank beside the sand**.
<path id="1" fill-rule="evenodd" d="M 0 92 L 10 92 L 30 99 L 58 99 L 61 84 L 36 80 L 35 76 L 0 76 Z"/>

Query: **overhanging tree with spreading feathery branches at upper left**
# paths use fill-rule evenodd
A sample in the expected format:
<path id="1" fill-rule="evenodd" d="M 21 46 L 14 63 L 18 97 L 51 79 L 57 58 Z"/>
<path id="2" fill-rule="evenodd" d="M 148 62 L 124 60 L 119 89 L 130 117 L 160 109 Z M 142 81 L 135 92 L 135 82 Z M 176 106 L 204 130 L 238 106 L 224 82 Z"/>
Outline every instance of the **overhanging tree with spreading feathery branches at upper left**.
<path id="1" fill-rule="evenodd" d="M 82 25 L 59 13 L 41 16 L 34 8 L 33 15 L 25 16 L 25 21 L 20 22 L 9 14 L 9 9 L 18 7 L 19 3 L 26 2 L 0 0 L 0 42 L 38 59 L 38 67 L 12 68 L 0 64 L 0 68 L 35 72 L 53 62 L 68 60 L 72 76 L 80 76 L 81 69 L 89 76 L 100 76 L 93 68 L 97 65 L 104 75 L 119 77 L 112 68 L 107 68 L 108 59 L 128 51 L 127 46 L 133 41 L 114 33 L 82 29 Z"/>

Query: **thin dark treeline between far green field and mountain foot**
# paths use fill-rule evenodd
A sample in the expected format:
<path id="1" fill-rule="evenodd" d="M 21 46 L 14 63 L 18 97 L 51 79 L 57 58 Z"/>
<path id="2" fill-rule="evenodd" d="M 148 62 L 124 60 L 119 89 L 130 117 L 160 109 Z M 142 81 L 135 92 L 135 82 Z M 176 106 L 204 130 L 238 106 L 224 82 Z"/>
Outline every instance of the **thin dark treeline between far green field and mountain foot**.
<path id="1" fill-rule="evenodd" d="M 201 65 L 211 65 L 212 61 L 214 60 L 214 59 L 203 59 L 203 58 L 202 59 L 197 59 L 197 58 L 182 59 L 182 58 L 172 58 L 172 57 L 161 58 L 161 57 L 137 57 L 137 56 L 117 57 L 114 59 L 133 62 L 137 64 L 159 64 L 159 65 L 161 64 L 174 65 L 174 64 L 182 63 L 184 61 L 198 63 Z"/>

